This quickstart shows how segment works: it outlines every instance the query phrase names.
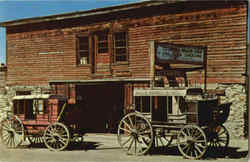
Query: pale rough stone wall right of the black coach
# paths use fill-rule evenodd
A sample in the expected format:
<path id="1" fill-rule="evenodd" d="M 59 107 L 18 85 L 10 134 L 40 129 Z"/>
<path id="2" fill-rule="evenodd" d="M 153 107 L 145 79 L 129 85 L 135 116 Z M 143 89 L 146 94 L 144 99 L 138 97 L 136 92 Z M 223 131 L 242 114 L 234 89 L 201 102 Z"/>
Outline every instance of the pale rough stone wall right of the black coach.
<path id="1" fill-rule="evenodd" d="M 230 138 L 244 137 L 244 128 L 248 123 L 244 120 L 244 112 L 247 111 L 245 86 L 239 84 L 218 85 L 217 89 L 225 90 L 225 96 L 220 97 L 221 103 L 232 102 L 230 115 L 224 124 L 230 133 Z"/>

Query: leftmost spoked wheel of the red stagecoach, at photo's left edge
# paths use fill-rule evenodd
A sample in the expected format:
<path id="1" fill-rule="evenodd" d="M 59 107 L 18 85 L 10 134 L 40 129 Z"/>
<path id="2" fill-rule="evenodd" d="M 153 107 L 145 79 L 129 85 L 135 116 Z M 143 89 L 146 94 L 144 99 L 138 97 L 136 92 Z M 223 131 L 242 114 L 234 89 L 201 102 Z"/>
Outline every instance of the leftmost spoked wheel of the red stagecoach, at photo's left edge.
<path id="1" fill-rule="evenodd" d="M 24 139 L 24 127 L 15 115 L 9 115 L 1 122 L 1 141 L 8 148 L 16 148 Z"/>

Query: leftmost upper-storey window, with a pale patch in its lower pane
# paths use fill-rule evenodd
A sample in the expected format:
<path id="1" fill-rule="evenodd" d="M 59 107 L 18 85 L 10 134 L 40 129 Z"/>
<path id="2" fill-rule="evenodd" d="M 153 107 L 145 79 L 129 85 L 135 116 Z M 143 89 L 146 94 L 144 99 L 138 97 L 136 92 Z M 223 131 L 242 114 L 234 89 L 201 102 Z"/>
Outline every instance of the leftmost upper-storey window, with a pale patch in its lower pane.
<path id="1" fill-rule="evenodd" d="M 89 37 L 78 37 L 78 64 L 89 64 Z"/>

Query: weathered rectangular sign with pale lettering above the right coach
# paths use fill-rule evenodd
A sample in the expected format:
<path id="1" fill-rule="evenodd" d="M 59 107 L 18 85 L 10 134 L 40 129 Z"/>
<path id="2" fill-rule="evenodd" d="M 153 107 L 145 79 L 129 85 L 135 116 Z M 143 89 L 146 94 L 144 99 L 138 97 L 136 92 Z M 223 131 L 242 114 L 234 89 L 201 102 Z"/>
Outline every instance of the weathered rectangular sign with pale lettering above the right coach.
<path id="1" fill-rule="evenodd" d="M 156 63 L 205 64 L 206 48 L 204 47 L 157 43 L 155 49 Z"/>

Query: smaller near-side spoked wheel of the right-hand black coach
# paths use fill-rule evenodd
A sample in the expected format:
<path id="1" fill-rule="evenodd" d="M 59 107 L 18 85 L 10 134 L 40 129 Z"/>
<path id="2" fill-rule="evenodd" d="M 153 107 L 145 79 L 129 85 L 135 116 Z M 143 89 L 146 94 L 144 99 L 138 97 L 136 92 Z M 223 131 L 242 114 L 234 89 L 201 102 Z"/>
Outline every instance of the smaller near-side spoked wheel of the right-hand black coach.
<path id="1" fill-rule="evenodd" d="M 207 150 L 204 131 L 196 125 L 184 126 L 178 136 L 177 145 L 181 154 L 188 159 L 199 159 Z"/>

